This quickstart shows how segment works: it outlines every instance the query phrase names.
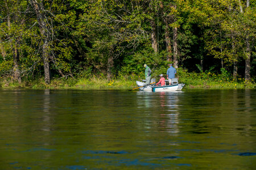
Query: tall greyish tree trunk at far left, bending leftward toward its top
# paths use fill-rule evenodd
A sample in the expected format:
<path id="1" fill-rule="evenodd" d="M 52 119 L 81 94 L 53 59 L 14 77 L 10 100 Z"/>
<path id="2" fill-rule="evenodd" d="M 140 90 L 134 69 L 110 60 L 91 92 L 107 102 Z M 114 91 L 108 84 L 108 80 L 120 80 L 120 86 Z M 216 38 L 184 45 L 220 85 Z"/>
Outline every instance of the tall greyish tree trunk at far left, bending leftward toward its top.
<path id="1" fill-rule="evenodd" d="M 40 34 L 42 37 L 43 41 L 43 52 L 42 52 L 42 57 L 43 57 L 43 64 L 44 64 L 44 81 L 49 84 L 51 83 L 51 78 L 50 78 L 50 70 L 49 70 L 49 52 L 48 52 L 48 33 L 47 33 L 47 25 L 44 19 L 46 19 L 46 16 L 44 15 L 44 7 L 42 2 L 38 3 L 36 0 L 30 0 L 32 3 L 32 6 L 34 7 L 36 17 L 39 23 L 39 29 L 40 29 Z"/>

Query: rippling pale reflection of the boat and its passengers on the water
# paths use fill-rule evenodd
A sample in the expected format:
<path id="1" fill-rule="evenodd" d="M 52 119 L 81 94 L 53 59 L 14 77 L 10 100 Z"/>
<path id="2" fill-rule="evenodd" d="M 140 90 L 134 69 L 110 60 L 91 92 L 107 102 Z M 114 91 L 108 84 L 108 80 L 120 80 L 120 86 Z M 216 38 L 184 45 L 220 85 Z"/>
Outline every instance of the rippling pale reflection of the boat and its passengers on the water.
<path id="1" fill-rule="evenodd" d="M 146 112 L 154 120 L 145 125 L 148 129 L 158 129 L 175 135 L 179 133 L 179 96 L 182 92 L 137 92 L 138 109 L 148 108 Z"/>

